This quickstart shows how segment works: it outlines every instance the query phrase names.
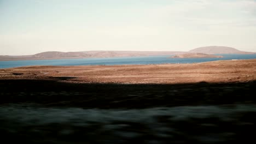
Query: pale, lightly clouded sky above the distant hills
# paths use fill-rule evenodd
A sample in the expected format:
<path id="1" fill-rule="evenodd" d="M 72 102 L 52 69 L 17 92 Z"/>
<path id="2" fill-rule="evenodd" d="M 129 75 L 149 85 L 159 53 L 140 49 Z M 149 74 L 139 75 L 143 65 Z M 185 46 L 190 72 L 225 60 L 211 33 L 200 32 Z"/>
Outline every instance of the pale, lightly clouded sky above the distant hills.
<path id="1" fill-rule="evenodd" d="M 0 0 L 0 55 L 201 46 L 256 52 L 256 0 Z"/>

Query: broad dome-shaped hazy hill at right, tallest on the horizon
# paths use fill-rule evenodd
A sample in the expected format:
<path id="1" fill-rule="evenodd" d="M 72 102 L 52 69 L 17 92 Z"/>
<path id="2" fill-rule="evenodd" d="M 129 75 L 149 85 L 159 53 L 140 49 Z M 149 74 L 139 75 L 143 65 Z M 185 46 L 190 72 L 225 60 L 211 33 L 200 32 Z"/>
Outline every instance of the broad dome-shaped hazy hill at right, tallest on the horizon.
<path id="1" fill-rule="evenodd" d="M 196 49 L 190 50 L 191 53 L 207 53 L 207 54 L 216 54 L 216 53 L 232 53 L 232 54 L 254 54 L 254 52 L 240 51 L 232 47 L 226 46 L 205 46 L 198 47 Z"/>

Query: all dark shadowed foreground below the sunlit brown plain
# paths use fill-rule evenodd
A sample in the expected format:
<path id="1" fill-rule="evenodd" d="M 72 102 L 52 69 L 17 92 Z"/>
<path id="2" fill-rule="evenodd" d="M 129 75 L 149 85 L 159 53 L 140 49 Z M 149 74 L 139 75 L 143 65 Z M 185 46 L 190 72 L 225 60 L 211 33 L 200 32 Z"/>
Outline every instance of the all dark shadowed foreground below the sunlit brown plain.
<path id="1" fill-rule="evenodd" d="M 0 130 L 10 143 L 255 142 L 255 81 L 0 83 Z"/>

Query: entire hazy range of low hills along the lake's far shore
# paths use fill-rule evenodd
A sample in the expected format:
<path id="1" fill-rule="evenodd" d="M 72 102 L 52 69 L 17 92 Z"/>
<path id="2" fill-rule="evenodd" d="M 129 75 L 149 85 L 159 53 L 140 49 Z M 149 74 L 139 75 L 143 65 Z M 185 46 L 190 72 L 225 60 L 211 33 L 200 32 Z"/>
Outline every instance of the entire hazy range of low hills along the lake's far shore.
<path id="1" fill-rule="evenodd" d="M 27 60 L 27 59 L 59 59 L 59 58 L 92 58 L 92 57 L 137 57 L 137 56 L 159 56 L 159 55 L 182 55 L 185 53 L 234 53 L 234 54 L 255 54 L 254 52 L 240 51 L 232 47 L 206 46 L 199 47 L 188 52 L 184 51 L 80 51 L 80 52 L 59 52 L 48 51 L 35 55 L 26 56 L 1 56 L 0 61 Z"/>

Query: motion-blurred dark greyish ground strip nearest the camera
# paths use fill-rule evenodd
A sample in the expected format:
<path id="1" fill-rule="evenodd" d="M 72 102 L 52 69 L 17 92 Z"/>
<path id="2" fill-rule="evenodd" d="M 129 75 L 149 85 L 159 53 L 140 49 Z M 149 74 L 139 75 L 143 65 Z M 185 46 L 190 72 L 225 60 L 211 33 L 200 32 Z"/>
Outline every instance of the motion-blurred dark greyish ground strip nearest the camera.
<path id="1" fill-rule="evenodd" d="M 255 143 L 256 105 L 133 110 L 2 105 L 4 143 Z"/>

